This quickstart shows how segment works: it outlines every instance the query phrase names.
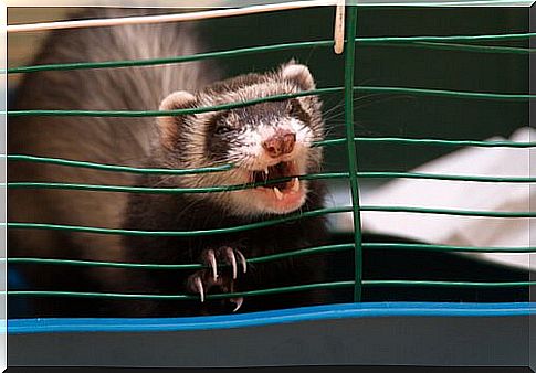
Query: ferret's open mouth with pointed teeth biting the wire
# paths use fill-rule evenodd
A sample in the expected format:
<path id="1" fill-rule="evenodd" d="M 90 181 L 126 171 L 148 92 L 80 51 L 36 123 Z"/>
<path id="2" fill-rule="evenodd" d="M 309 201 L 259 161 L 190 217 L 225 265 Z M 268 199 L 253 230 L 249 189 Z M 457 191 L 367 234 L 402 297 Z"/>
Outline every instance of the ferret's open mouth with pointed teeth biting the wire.
<path id="1" fill-rule="evenodd" d="M 283 200 L 287 193 L 297 193 L 299 191 L 299 180 L 296 177 L 297 168 L 293 161 L 280 162 L 275 166 L 270 166 L 263 171 L 253 171 L 253 182 L 269 182 L 271 180 L 284 179 L 294 177 L 286 182 L 270 183 L 266 185 L 260 185 L 256 189 L 273 190 L 277 200 Z"/>

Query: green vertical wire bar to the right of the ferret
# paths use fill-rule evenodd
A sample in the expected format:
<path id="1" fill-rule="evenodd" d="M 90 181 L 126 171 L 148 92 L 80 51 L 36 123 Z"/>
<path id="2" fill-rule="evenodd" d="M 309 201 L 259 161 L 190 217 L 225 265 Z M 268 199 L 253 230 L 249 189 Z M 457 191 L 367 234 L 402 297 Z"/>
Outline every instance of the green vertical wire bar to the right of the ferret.
<path id="1" fill-rule="evenodd" d="M 357 182 L 357 154 L 354 141 L 354 67 L 356 57 L 357 34 L 357 6 L 347 7 L 346 52 L 345 52 L 345 122 L 346 145 L 348 147 L 348 172 L 350 174 L 351 206 L 354 213 L 354 239 L 356 281 L 354 285 L 354 301 L 361 300 L 361 274 L 362 274 L 362 248 L 361 248 L 361 219 L 359 212 L 359 190 Z"/>

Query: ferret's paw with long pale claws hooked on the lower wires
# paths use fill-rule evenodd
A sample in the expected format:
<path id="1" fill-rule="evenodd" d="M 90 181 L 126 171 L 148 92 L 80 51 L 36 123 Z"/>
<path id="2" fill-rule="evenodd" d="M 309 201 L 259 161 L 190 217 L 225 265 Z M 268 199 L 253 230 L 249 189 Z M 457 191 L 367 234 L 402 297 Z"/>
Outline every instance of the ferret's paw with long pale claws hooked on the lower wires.
<path id="1" fill-rule="evenodd" d="M 207 249 L 201 254 L 201 262 L 210 269 L 200 269 L 192 274 L 187 281 L 187 290 L 200 296 L 204 302 L 206 295 L 211 288 L 218 288 L 219 292 L 234 292 L 234 280 L 238 277 L 239 266 L 243 274 L 248 271 L 248 264 L 244 255 L 228 246 L 218 249 Z M 218 264 L 227 264 L 229 271 L 218 271 Z M 243 298 L 229 298 L 227 301 L 234 305 L 233 312 L 238 311 L 243 303 Z"/>

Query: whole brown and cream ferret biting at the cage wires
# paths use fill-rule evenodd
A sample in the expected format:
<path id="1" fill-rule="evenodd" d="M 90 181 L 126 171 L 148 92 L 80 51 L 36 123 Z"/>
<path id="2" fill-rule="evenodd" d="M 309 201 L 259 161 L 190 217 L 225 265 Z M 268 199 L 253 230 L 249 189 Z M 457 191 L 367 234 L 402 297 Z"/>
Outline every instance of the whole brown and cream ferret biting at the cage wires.
<path id="1" fill-rule="evenodd" d="M 81 18 L 143 10 L 91 9 Z M 162 23 L 54 31 L 32 64 L 156 58 L 203 52 L 192 24 Z M 214 83 L 216 82 L 216 83 Z M 12 109 L 172 110 L 240 103 L 315 88 L 303 64 L 221 79 L 211 62 L 150 67 L 50 71 L 24 76 Z M 204 188 L 260 182 L 217 193 L 149 194 L 9 190 L 10 222 L 41 222 L 141 231 L 233 227 L 322 207 L 325 189 L 299 175 L 320 170 L 324 138 L 317 96 L 271 100 L 228 110 L 158 118 L 13 117 L 9 153 L 133 167 L 227 171 L 169 175 L 104 172 L 44 163 L 10 163 L 9 181 L 56 181 L 153 188 Z M 287 182 L 267 183 L 291 178 Z M 265 184 L 262 184 L 262 183 Z M 325 244 L 323 217 L 196 237 L 120 236 L 61 231 L 9 232 L 10 256 L 146 264 L 202 264 L 197 270 L 20 267 L 31 289 L 190 295 L 169 299 L 34 299 L 35 316 L 161 317 L 214 315 L 325 302 L 320 290 L 211 299 L 320 283 L 320 256 L 252 264 L 251 258 Z"/>

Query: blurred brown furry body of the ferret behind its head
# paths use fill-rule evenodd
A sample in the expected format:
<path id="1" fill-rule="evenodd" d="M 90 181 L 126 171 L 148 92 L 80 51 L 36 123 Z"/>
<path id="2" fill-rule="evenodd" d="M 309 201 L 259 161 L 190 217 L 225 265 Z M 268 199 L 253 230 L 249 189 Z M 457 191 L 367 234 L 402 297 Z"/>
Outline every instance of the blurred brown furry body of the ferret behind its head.
<path id="1" fill-rule="evenodd" d="M 146 13 L 93 9 L 83 18 Z M 127 25 L 53 32 L 34 64 L 156 58 L 202 52 L 188 24 Z M 177 89 L 198 89 L 217 78 L 206 63 L 154 67 L 78 70 L 28 74 L 14 109 L 158 109 Z M 157 84 L 155 84 L 157 82 Z M 10 118 L 10 153 L 28 153 L 111 164 L 140 166 L 156 136 L 155 118 L 22 117 Z M 134 175 L 87 169 L 10 163 L 10 181 L 59 181 L 132 184 Z M 9 220 L 118 227 L 126 194 L 51 190 L 10 190 Z M 86 258 L 119 258 L 118 236 L 55 232 L 10 232 L 10 247 L 24 255 L 56 253 L 66 242 Z"/>

